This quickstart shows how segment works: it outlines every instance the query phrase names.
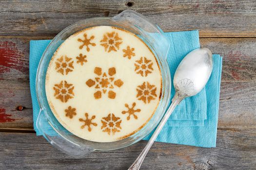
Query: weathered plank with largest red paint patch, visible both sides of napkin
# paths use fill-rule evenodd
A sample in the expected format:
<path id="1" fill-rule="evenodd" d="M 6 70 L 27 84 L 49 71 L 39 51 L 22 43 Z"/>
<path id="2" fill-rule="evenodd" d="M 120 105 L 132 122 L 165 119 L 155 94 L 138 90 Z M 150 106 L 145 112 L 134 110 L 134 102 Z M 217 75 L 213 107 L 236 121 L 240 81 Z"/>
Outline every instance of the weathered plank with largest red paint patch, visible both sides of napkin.
<path id="1" fill-rule="evenodd" d="M 53 36 L 0 36 L 0 79 L 29 79 L 29 40 Z M 256 81 L 256 38 L 200 38 L 223 56 L 222 82 Z"/>

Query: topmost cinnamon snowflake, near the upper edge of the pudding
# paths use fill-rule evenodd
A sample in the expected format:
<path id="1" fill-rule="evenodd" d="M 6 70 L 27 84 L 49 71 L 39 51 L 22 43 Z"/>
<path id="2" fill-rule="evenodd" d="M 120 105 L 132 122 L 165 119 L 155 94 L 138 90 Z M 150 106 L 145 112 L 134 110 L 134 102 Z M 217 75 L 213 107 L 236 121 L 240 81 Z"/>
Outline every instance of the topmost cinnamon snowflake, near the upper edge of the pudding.
<path id="1" fill-rule="evenodd" d="M 105 51 L 117 51 L 119 50 L 119 45 L 122 43 L 122 38 L 116 32 L 106 33 L 100 42 L 100 45 L 105 48 Z"/>

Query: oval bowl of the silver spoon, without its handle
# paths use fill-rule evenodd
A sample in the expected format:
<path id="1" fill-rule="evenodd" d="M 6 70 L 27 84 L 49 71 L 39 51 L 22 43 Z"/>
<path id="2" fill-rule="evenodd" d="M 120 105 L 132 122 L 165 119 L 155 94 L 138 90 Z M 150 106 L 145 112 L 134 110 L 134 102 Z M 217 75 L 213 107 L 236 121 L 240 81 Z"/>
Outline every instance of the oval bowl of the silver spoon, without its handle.
<path id="1" fill-rule="evenodd" d="M 196 95 L 208 82 L 213 70 L 212 52 L 200 48 L 188 53 L 180 62 L 174 75 L 176 91 L 187 97 Z"/>

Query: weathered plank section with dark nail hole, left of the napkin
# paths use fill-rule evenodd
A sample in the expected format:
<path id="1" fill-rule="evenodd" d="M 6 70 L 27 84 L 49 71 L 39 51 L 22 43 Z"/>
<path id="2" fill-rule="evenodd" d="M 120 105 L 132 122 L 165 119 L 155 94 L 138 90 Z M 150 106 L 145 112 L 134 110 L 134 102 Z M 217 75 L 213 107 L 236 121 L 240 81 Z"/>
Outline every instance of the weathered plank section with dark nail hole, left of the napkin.
<path id="1" fill-rule="evenodd" d="M 18 109 L 20 105 L 23 110 Z M 28 81 L 0 80 L 0 129 L 33 130 Z"/>

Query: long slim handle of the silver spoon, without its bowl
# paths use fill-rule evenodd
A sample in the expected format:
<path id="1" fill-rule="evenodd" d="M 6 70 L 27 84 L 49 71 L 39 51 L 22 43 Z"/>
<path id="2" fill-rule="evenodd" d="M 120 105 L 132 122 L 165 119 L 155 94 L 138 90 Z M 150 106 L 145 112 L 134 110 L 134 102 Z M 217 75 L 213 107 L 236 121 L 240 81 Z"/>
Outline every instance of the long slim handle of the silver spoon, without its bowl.
<path id="1" fill-rule="evenodd" d="M 146 157 L 149 149 L 151 148 L 151 146 L 153 145 L 154 141 L 156 140 L 157 136 L 159 135 L 160 131 L 162 130 L 164 124 L 166 123 L 166 121 L 168 120 L 168 118 L 171 116 L 171 114 L 173 113 L 173 110 L 175 109 L 175 107 L 178 105 L 178 103 L 180 101 L 182 101 L 184 98 L 180 97 L 179 95 L 177 95 L 177 93 L 175 94 L 175 97 L 172 101 L 172 104 L 170 105 L 170 107 L 168 108 L 167 112 L 165 113 L 163 119 L 160 121 L 160 123 L 158 124 L 158 127 L 156 129 L 156 131 L 154 132 L 154 134 L 151 136 L 151 138 L 149 139 L 147 145 L 145 146 L 145 148 L 143 149 L 143 151 L 139 154 L 138 158 L 136 159 L 136 161 L 132 164 L 132 166 L 128 169 L 128 170 L 139 170 L 144 158 Z"/>

